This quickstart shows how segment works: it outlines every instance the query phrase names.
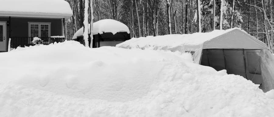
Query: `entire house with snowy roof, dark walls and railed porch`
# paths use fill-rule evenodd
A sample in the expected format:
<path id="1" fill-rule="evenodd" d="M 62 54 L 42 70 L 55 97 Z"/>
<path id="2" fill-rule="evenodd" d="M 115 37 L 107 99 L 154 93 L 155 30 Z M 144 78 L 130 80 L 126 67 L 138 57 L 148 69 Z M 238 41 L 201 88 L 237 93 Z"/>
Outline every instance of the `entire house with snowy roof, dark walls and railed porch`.
<path id="1" fill-rule="evenodd" d="M 8 50 L 9 38 L 11 48 L 29 46 L 33 37 L 43 44 L 64 41 L 64 24 L 71 16 L 64 0 L 0 0 L 0 52 Z"/>

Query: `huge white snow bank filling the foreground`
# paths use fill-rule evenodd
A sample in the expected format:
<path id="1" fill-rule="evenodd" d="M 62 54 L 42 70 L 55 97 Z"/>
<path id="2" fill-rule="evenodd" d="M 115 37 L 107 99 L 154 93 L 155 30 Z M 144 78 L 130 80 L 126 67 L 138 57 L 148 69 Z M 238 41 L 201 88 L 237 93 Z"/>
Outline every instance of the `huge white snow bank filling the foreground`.
<path id="1" fill-rule="evenodd" d="M 0 53 L 1 117 L 272 117 L 258 85 L 188 53 L 66 41 Z"/>

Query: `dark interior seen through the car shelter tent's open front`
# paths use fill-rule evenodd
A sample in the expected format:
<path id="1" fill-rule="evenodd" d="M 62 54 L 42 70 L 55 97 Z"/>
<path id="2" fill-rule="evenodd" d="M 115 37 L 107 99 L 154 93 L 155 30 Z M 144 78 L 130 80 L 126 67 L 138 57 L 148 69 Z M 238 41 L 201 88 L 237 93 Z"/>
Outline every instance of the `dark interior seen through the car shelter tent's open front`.
<path id="1" fill-rule="evenodd" d="M 204 49 L 201 65 L 216 71 L 227 70 L 227 74 L 241 75 L 255 84 L 262 84 L 261 50 Z"/>

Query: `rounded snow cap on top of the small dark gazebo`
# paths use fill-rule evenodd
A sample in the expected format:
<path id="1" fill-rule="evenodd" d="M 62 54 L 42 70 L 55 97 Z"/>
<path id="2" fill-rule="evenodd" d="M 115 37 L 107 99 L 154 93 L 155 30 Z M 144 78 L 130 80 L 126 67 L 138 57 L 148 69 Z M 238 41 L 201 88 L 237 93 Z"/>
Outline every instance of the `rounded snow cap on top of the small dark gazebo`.
<path id="1" fill-rule="evenodd" d="M 93 35 L 98 33 L 113 33 L 116 34 L 118 32 L 127 32 L 130 33 L 128 26 L 123 24 L 122 22 L 113 20 L 113 19 L 102 19 L 93 23 Z M 89 24 L 89 34 L 90 34 L 90 24 Z M 83 27 L 80 28 L 72 37 L 72 39 L 76 39 L 78 36 L 83 36 Z"/>

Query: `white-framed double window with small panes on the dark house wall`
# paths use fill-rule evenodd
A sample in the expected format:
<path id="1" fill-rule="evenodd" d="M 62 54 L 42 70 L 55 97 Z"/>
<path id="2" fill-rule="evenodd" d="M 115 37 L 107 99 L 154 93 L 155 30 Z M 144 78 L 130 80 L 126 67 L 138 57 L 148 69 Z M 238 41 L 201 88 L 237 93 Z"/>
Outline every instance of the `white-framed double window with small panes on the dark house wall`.
<path id="1" fill-rule="evenodd" d="M 29 22 L 29 37 L 50 37 L 51 23 Z"/>

